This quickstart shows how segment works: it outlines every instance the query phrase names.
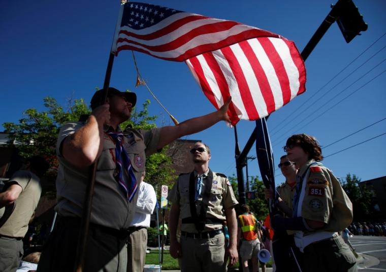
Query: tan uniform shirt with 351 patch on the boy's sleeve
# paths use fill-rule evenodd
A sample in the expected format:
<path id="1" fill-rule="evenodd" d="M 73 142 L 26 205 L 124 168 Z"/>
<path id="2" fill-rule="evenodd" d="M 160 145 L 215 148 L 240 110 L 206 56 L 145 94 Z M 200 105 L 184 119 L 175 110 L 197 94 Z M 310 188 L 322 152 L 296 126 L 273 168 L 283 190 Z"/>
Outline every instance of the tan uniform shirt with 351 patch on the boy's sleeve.
<path id="1" fill-rule="evenodd" d="M 300 168 L 298 175 L 302 176 L 312 162 L 314 162 L 313 159 L 307 161 Z M 323 228 L 315 230 L 316 232 L 342 231 L 351 223 L 351 201 L 330 169 L 325 166 L 313 165 L 303 182 L 306 182 L 306 186 L 301 204 L 301 216 L 305 219 L 326 223 Z M 309 233 L 305 231 L 305 235 Z"/>

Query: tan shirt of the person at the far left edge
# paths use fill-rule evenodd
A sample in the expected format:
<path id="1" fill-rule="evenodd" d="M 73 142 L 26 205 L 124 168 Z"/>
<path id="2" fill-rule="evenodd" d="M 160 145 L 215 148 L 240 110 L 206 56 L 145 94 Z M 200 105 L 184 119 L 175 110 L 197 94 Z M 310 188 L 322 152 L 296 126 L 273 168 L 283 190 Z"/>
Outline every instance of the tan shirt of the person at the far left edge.
<path id="1" fill-rule="evenodd" d="M 15 200 L 15 209 L 11 216 L 0 228 L 0 234 L 10 237 L 24 237 L 28 230 L 29 219 L 38 206 L 42 186 L 38 176 L 28 171 L 16 172 L 9 179 L 9 182 L 11 181 L 16 181 L 23 190 Z"/>

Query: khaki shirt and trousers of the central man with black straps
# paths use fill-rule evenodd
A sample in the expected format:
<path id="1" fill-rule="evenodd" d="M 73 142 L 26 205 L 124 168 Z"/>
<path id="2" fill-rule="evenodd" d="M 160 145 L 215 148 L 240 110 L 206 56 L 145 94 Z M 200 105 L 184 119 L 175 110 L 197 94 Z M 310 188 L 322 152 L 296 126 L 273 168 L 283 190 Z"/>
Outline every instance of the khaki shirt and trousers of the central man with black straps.
<path id="1" fill-rule="evenodd" d="M 208 171 L 204 174 L 208 175 Z M 180 175 L 174 183 L 167 199 L 180 207 L 180 218 L 189 218 L 189 178 L 190 174 Z M 198 173 L 194 171 L 195 183 L 197 183 Z M 225 209 L 231 208 L 238 204 L 232 190 L 232 186 L 227 177 L 223 174 L 213 172 L 212 184 L 207 184 L 207 177 L 203 178 L 201 192 L 205 192 L 205 186 L 211 186 L 210 198 L 208 203 L 208 211 L 206 218 L 216 218 L 226 220 Z M 195 186 L 196 188 L 196 186 Z M 199 196 L 196 201 L 197 214 L 200 213 L 202 205 L 202 197 Z M 205 232 L 222 229 L 222 224 L 206 224 Z M 198 233 L 194 223 L 181 224 L 181 231 L 187 233 Z M 208 236 L 203 235 L 203 239 L 195 239 L 181 235 L 180 244 L 182 249 L 182 257 L 178 259 L 181 271 L 199 272 L 199 271 L 225 271 L 227 263 L 224 262 L 225 254 L 225 239 L 224 234 L 219 233 L 208 239 Z"/>

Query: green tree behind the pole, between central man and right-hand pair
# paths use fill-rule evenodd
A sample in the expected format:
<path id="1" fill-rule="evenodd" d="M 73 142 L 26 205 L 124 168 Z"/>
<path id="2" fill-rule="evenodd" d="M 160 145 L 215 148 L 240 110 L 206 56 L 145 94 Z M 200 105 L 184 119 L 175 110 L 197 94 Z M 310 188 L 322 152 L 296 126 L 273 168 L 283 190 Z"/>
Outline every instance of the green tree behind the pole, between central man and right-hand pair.
<path id="1" fill-rule="evenodd" d="M 237 184 L 237 177 L 235 174 L 233 176 L 228 177 L 231 182 L 232 189 L 235 193 L 236 199 L 239 201 L 239 189 Z M 255 217 L 258 220 L 264 220 L 268 215 L 268 202 L 265 200 L 264 194 L 264 183 L 259 179 L 258 176 L 252 176 L 249 181 L 250 191 L 255 192 L 255 199 L 247 199 L 247 205 L 251 212 L 254 213 Z M 237 214 L 240 212 L 237 209 Z"/>

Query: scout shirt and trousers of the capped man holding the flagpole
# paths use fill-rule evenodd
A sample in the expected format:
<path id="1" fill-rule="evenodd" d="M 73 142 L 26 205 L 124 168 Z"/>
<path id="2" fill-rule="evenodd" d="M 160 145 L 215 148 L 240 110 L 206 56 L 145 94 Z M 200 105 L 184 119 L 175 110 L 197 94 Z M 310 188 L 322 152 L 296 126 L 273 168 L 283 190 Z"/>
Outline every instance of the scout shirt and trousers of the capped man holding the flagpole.
<path id="1" fill-rule="evenodd" d="M 59 233 L 63 228 L 74 227 L 74 225 L 77 225 L 78 223 L 69 223 L 69 221 L 74 221 L 73 218 L 76 218 L 75 220 L 79 219 L 77 221 L 80 222 L 80 218 L 82 216 L 84 194 L 88 183 L 89 167 L 78 167 L 67 161 L 60 154 L 60 145 L 68 135 L 75 133 L 75 131 L 80 129 L 84 124 L 85 122 L 67 123 L 61 127 L 59 132 L 59 138 L 56 145 L 56 154 L 59 161 L 58 176 L 56 180 L 58 204 L 55 207 L 55 211 L 58 215 L 66 219 L 66 224 L 69 224 L 69 226 L 63 225 L 61 229 L 59 228 L 57 230 L 57 233 Z M 107 131 L 107 129 L 108 127 L 105 126 L 105 131 Z M 130 158 L 137 182 L 141 180 L 141 173 L 145 169 L 146 156 L 157 152 L 156 146 L 159 140 L 160 129 L 161 128 L 153 128 L 151 131 L 147 131 L 130 128 L 124 131 L 123 147 Z M 118 128 L 118 131 L 119 130 L 120 128 Z M 123 233 L 124 230 L 128 229 L 135 214 L 138 192 L 133 197 L 133 200 L 129 202 L 126 192 L 115 179 L 115 142 L 106 133 L 104 134 L 103 141 L 104 147 L 102 154 L 98 159 L 97 173 L 95 176 L 95 188 L 90 221 L 91 223 L 94 223 L 92 226 L 95 226 L 96 229 L 96 234 L 94 234 L 95 239 L 101 241 L 103 240 L 105 244 L 103 246 L 98 244 L 88 245 L 85 267 L 88 267 L 88 265 L 95 265 L 100 267 L 100 269 L 105 268 L 107 271 L 117 271 L 117 267 L 119 267 L 118 271 L 126 271 L 127 250 L 125 238 L 124 241 L 122 237 L 122 239 L 119 239 L 118 246 L 109 246 L 107 244 L 110 244 L 110 242 L 106 239 L 106 235 L 102 235 L 101 237 L 96 236 L 107 231 L 108 233 L 113 234 L 111 235 L 111 239 L 114 241 L 114 239 L 117 239 L 116 231 L 121 230 Z M 123 172 L 123 178 L 128 179 L 126 171 Z M 60 237 L 60 235 L 61 234 L 56 235 L 58 241 L 55 243 L 68 243 L 67 241 L 63 241 L 63 238 Z M 91 233 L 91 235 L 93 234 Z M 71 238 L 74 238 L 73 240 L 77 239 L 77 237 Z M 110 247 L 111 250 L 109 250 Z M 119 254 L 116 250 L 117 247 L 120 249 Z M 89 254 L 90 248 L 93 248 L 96 255 L 92 256 L 92 253 Z M 46 252 L 48 253 L 48 251 L 53 251 L 53 249 L 47 249 Z M 74 251 L 76 252 L 76 247 Z M 75 252 L 74 256 L 71 256 L 71 258 L 75 258 Z M 56 252 L 52 254 L 56 254 L 56 256 L 58 256 L 61 253 Z M 103 258 L 105 256 L 106 258 Z M 44 259 L 44 252 L 42 257 Z M 116 261 L 111 261 L 111 258 L 116 258 Z M 47 259 L 44 259 L 44 261 L 47 261 Z M 51 265 L 55 262 L 56 267 L 60 267 L 60 265 L 65 265 L 66 263 L 70 263 L 71 265 L 72 263 L 72 261 L 63 257 L 50 261 Z M 41 262 L 42 258 L 39 262 L 39 268 L 43 266 L 41 265 Z M 110 266 L 104 267 L 107 263 L 109 263 Z M 73 267 L 71 270 L 72 269 Z M 49 270 L 52 270 L 52 266 L 42 268 L 40 271 Z"/>

